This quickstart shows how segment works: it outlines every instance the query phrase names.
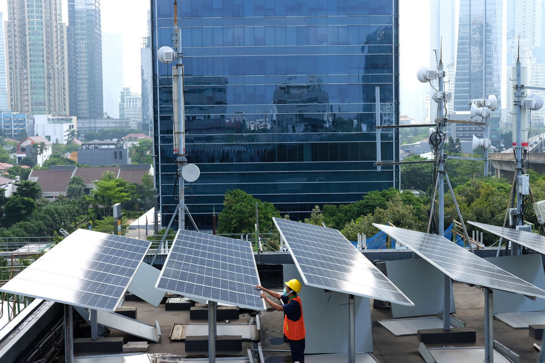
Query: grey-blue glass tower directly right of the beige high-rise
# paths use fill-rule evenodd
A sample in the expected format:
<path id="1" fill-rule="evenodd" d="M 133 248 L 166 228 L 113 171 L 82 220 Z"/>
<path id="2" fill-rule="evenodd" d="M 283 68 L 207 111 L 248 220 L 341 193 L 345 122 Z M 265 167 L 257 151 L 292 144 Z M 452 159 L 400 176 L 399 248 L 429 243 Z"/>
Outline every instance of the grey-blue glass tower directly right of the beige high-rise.
<path id="1" fill-rule="evenodd" d="M 68 0 L 70 114 L 98 118 L 102 105 L 102 32 L 99 0 Z"/>

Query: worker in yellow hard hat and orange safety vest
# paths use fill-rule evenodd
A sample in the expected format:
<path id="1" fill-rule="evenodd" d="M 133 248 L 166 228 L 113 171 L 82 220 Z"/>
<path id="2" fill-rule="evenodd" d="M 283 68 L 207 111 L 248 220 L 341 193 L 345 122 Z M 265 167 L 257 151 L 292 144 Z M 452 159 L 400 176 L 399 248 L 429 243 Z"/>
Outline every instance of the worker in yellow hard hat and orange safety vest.
<path id="1" fill-rule="evenodd" d="M 261 289 L 261 297 L 265 299 L 272 309 L 284 312 L 284 335 L 289 339 L 289 348 L 292 352 L 293 363 L 305 363 L 305 321 L 303 320 L 303 309 L 299 292 L 301 291 L 301 282 L 296 279 L 284 283 L 284 293 L 270 291 L 261 285 L 256 288 Z M 272 302 L 264 293 L 282 300 L 282 305 Z"/>

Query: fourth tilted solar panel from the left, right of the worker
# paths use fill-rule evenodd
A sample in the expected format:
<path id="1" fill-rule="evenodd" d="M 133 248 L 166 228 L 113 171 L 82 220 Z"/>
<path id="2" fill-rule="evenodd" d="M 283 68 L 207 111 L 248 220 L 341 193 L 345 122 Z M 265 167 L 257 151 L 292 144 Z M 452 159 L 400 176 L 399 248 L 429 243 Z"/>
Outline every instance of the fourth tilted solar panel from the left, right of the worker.
<path id="1" fill-rule="evenodd" d="M 453 280 L 527 296 L 545 298 L 545 291 L 481 259 L 445 237 L 373 223 Z"/>

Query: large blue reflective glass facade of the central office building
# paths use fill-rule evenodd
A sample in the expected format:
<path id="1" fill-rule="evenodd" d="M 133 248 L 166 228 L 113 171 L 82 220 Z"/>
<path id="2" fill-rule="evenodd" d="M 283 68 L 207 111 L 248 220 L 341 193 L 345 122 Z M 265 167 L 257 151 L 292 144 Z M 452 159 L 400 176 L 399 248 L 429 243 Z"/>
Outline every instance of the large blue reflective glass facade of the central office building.
<path id="1" fill-rule="evenodd" d="M 227 190 L 243 189 L 292 219 L 399 186 L 376 161 L 383 125 L 398 124 L 396 0 L 192 0 L 178 3 L 185 66 L 186 152 L 201 177 L 186 190 L 199 227 Z M 163 224 L 177 200 L 172 147 L 173 4 L 152 0 L 156 186 Z M 398 133 L 381 134 L 383 161 Z"/>

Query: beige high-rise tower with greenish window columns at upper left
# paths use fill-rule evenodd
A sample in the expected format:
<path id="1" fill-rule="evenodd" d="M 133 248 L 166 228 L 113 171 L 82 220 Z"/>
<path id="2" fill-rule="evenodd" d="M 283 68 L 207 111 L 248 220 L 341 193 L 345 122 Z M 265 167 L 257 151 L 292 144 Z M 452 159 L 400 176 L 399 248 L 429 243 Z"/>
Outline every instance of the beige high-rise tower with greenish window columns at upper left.
<path id="1" fill-rule="evenodd" d="M 69 114 L 66 26 L 58 0 L 8 0 L 10 109 Z"/>

